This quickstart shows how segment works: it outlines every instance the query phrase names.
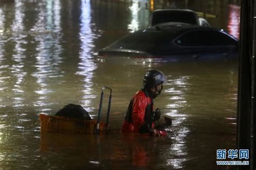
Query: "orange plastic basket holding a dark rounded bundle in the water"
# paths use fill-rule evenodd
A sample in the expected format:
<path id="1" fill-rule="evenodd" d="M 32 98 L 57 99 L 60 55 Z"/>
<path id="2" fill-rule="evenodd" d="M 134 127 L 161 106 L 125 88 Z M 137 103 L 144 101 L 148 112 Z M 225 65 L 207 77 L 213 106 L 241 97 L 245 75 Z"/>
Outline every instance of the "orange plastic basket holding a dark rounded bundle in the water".
<path id="1" fill-rule="evenodd" d="M 50 116 L 39 114 L 41 121 L 41 133 L 71 133 L 92 134 L 95 133 L 97 121 L 83 121 L 75 118 Z M 99 131 L 106 128 L 104 123 L 99 123 Z"/>

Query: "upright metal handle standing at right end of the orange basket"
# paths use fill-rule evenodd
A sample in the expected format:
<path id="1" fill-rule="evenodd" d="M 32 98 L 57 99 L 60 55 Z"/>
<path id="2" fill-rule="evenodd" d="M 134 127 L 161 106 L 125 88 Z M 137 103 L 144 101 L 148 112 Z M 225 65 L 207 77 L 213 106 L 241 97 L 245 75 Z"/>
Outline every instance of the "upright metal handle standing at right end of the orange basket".
<path id="1" fill-rule="evenodd" d="M 112 89 L 106 86 L 103 86 L 102 93 L 100 95 L 100 102 L 99 102 L 99 112 L 98 112 L 98 119 L 97 119 L 97 126 L 96 126 L 96 134 L 99 134 L 99 121 L 100 121 L 100 114 L 102 112 L 102 101 L 104 97 L 104 90 L 109 89 L 110 95 L 109 95 L 109 105 L 107 107 L 107 118 L 106 118 L 106 126 L 109 124 L 109 114 L 110 114 L 110 105 L 111 105 L 111 98 L 112 98 Z"/>

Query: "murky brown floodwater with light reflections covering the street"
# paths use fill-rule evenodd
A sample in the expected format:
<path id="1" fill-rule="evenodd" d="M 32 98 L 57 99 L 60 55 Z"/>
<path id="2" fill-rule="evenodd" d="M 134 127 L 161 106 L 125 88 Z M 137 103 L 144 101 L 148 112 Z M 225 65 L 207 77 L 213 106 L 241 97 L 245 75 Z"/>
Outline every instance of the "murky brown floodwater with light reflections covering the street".
<path id="1" fill-rule="evenodd" d="M 216 150 L 236 147 L 237 62 L 132 64 L 96 56 L 147 27 L 163 5 L 204 12 L 212 26 L 238 37 L 238 1 L 112 2 L 0 4 L 0 169 L 232 169 L 216 166 Z M 122 136 L 129 101 L 149 69 L 167 76 L 154 107 L 173 125 L 165 138 Z M 40 112 L 75 103 L 96 118 L 103 86 L 113 89 L 111 133 L 41 136 Z"/>

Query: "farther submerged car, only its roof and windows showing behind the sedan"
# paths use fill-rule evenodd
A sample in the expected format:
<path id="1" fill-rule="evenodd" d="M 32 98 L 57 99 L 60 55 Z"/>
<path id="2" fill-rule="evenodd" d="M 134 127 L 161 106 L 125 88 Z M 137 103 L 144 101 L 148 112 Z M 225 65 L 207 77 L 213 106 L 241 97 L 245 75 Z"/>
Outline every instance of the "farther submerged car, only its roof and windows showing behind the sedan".
<path id="1" fill-rule="evenodd" d="M 205 18 L 188 9 L 158 9 L 152 13 L 151 26 L 163 23 L 187 23 L 191 25 L 210 26 Z"/>

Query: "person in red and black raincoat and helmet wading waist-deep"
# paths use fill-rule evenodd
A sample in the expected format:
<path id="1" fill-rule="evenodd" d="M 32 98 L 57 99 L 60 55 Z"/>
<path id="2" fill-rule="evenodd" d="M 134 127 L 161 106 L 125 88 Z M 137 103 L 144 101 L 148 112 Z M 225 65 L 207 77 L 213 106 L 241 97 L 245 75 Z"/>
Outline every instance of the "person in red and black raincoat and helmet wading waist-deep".
<path id="1" fill-rule="evenodd" d="M 142 89 L 133 96 L 127 109 L 121 129 L 122 133 L 147 133 L 151 136 L 166 136 L 165 131 L 154 129 L 156 116 L 153 112 L 153 100 L 160 95 L 166 82 L 164 73 L 159 70 L 150 70 L 145 74 Z"/>

